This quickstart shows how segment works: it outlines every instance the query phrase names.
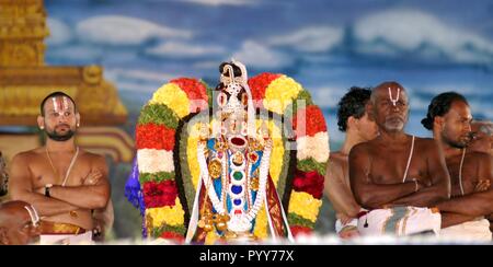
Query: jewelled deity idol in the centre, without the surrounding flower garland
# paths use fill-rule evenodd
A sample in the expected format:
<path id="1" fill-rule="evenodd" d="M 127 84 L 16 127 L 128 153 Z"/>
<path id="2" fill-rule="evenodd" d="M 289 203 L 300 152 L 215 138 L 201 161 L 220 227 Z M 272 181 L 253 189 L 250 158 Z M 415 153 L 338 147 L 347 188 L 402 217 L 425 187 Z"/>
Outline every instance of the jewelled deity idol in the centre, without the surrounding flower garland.
<path id="1" fill-rule="evenodd" d="M 213 130 L 203 126 L 200 130 L 197 146 L 200 183 L 187 241 L 204 240 L 210 231 L 226 242 L 255 241 L 255 219 L 264 205 L 271 234 L 291 239 L 270 176 L 273 140 L 265 124 L 255 129 L 246 69 L 232 61 L 222 63 L 219 70 L 220 83 L 215 91 L 217 127 Z"/>

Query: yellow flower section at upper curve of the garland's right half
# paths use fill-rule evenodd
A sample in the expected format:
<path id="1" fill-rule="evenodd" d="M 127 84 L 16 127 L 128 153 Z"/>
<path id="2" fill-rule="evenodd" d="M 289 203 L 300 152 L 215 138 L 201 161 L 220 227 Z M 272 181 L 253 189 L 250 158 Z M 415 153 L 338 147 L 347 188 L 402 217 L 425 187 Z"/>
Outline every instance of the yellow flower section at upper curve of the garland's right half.
<path id="1" fill-rule="evenodd" d="M 282 76 L 268 84 L 265 90 L 264 107 L 277 114 L 284 114 L 303 89 L 293 78 Z"/>

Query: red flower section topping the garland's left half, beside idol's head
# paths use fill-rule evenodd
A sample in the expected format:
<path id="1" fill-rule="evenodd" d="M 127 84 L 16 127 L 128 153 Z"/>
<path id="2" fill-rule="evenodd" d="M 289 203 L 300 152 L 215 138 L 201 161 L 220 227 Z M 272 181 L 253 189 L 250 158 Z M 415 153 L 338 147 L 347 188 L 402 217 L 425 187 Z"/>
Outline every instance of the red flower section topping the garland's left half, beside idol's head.
<path id="1" fill-rule="evenodd" d="M 196 113 L 204 111 L 208 105 L 208 96 L 206 86 L 196 79 L 180 78 L 170 82 L 179 85 L 190 100 L 190 112 Z"/>

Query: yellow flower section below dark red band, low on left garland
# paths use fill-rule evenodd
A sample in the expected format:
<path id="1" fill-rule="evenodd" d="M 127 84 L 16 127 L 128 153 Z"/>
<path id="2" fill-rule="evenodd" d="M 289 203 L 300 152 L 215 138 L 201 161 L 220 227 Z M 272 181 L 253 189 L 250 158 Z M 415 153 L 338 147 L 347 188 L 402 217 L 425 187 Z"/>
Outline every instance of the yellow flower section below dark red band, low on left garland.
<path id="1" fill-rule="evenodd" d="M 176 198 L 173 207 L 149 208 L 146 209 L 146 218 L 152 218 L 152 228 L 162 225 L 181 227 L 185 223 L 185 212 L 183 211 L 180 199 Z"/>

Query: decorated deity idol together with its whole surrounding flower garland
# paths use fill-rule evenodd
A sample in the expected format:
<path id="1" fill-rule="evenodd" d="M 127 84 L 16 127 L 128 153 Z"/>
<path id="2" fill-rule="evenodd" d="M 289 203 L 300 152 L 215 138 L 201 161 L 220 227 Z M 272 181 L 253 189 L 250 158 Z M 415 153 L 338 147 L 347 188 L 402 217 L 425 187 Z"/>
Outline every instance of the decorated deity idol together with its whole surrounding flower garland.
<path id="1" fill-rule="evenodd" d="M 301 84 L 219 67 L 213 89 L 177 78 L 160 86 L 136 127 L 125 186 L 142 236 L 215 244 L 310 234 L 322 205 L 329 134 Z"/>

